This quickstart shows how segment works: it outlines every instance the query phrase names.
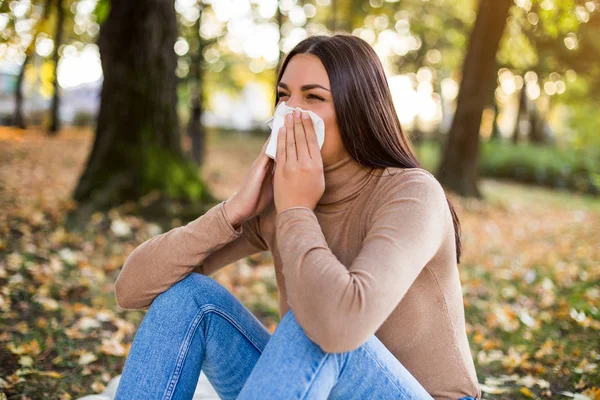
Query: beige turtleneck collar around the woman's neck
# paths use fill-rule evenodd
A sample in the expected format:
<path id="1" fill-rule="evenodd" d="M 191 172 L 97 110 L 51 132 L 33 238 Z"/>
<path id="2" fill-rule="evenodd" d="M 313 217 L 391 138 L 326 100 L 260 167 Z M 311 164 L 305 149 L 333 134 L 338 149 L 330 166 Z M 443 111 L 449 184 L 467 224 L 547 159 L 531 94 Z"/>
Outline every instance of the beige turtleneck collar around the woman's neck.
<path id="1" fill-rule="evenodd" d="M 319 206 L 332 206 L 354 198 L 369 181 L 373 168 L 365 167 L 347 155 L 323 168 L 325 192 Z"/>

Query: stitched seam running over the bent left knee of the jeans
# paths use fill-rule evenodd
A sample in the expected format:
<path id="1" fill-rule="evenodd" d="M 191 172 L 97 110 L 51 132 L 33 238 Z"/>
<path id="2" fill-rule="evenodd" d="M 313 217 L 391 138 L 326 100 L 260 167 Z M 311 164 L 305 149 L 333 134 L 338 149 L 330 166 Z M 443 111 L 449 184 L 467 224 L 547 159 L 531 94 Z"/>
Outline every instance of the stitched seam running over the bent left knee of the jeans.
<path id="1" fill-rule="evenodd" d="M 193 338 L 194 334 L 196 333 L 198 326 L 200 326 L 200 323 L 204 319 L 204 316 L 211 311 L 214 312 L 215 314 L 221 316 L 222 318 L 226 319 L 242 335 L 244 335 L 246 337 L 246 339 L 262 354 L 263 349 L 260 348 L 260 346 L 258 345 L 258 342 L 254 339 L 254 337 L 243 328 L 243 325 L 240 325 L 237 321 L 235 321 L 235 319 L 231 318 L 231 316 L 228 315 L 227 312 L 223 311 L 222 309 L 220 309 L 218 306 L 216 306 L 214 304 L 207 304 L 205 306 L 202 306 L 198 310 L 196 315 L 194 316 L 194 319 L 192 320 L 192 323 L 190 324 L 190 327 L 188 328 L 188 331 L 185 335 L 183 343 L 181 344 L 179 354 L 177 355 L 177 362 L 175 364 L 175 369 L 174 369 L 173 373 L 171 374 L 171 379 L 169 380 L 169 383 L 167 384 L 167 388 L 165 389 L 165 393 L 163 395 L 164 400 L 170 400 L 172 398 L 175 386 L 177 385 L 177 383 L 179 381 L 181 369 L 183 368 L 183 364 L 185 362 L 185 358 L 186 358 L 188 350 L 190 348 L 192 338 Z"/>

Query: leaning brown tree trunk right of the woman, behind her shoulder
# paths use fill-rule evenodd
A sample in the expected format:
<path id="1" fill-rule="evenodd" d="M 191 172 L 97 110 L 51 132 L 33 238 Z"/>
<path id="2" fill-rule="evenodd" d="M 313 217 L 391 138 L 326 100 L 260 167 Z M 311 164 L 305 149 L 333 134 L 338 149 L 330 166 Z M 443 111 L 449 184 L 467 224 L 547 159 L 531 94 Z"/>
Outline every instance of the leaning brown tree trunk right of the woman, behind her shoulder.
<path id="1" fill-rule="evenodd" d="M 481 0 L 471 33 L 456 113 L 437 172 L 445 187 L 462 196 L 481 197 L 477 186 L 481 115 L 496 81 L 496 52 L 512 3 Z"/>

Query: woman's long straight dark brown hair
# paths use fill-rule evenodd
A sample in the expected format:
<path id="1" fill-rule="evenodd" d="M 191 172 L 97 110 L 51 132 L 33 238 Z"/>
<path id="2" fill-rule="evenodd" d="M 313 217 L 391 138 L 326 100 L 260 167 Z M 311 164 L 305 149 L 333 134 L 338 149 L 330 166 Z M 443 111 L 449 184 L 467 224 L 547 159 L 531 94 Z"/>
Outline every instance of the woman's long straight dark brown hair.
<path id="1" fill-rule="evenodd" d="M 313 54 L 323 63 L 342 142 L 356 162 L 377 168 L 422 168 L 400 125 L 381 61 L 367 42 L 346 33 L 308 37 L 285 57 L 277 85 L 296 54 Z M 456 262 L 460 263 L 460 222 L 447 195 L 446 201 L 454 223 Z"/>

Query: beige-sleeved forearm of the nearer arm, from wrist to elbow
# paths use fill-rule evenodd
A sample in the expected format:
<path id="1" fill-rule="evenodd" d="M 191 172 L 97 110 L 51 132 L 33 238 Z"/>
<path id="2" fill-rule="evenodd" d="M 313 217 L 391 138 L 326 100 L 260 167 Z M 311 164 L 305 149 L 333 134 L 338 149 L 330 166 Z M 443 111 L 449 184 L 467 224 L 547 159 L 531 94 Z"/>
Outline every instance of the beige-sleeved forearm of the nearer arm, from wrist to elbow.
<path id="1" fill-rule="evenodd" d="M 329 352 L 357 347 L 370 328 L 365 287 L 331 252 L 311 211 L 296 207 L 277 219 L 288 302 L 307 336 Z"/>

